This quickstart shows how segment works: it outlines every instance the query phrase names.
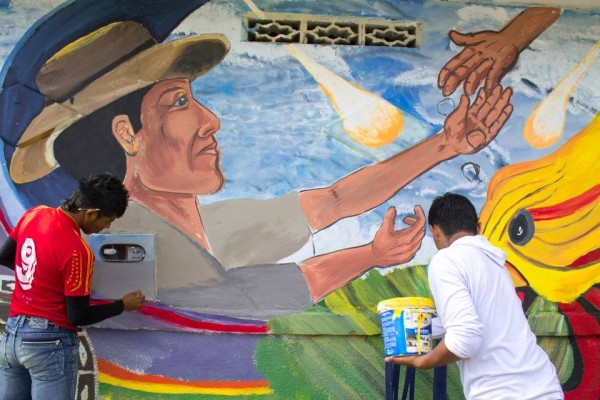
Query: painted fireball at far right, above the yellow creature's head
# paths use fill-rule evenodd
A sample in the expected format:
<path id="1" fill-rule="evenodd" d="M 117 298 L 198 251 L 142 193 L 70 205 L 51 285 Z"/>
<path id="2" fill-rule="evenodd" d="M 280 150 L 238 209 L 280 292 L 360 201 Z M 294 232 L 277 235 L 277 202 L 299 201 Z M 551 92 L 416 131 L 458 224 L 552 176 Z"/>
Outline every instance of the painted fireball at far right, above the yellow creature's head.
<path id="1" fill-rule="evenodd" d="M 600 41 L 535 107 L 523 128 L 523 136 L 532 147 L 546 148 L 560 139 L 565 130 L 569 98 L 599 53 Z"/>

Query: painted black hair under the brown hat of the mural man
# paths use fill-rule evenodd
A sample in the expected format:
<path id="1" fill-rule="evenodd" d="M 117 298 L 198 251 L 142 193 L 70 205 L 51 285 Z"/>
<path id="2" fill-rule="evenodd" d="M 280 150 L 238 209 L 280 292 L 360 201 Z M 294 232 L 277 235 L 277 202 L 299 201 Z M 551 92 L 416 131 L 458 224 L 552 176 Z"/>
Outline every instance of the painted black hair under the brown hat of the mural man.
<path id="1" fill-rule="evenodd" d="M 125 151 L 112 134 L 112 120 L 127 115 L 138 132 L 142 100 L 152 86 L 123 96 L 66 128 L 54 142 L 54 157 L 61 168 L 75 179 L 110 172 L 122 180 L 127 169 Z"/>

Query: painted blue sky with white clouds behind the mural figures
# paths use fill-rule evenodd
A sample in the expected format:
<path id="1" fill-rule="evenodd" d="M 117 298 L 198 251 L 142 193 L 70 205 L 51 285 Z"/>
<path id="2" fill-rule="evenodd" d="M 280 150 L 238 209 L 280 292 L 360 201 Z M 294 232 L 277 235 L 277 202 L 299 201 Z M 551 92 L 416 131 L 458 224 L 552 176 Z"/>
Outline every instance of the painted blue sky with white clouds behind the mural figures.
<path id="1" fill-rule="evenodd" d="M 0 63 L 39 17 L 60 4 L 51 0 L 0 3 Z M 449 42 L 447 32 L 497 30 L 523 10 L 439 1 L 257 0 L 256 5 L 264 12 L 421 20 L 424 34 L 419 49 L 302 46 L 321 65 L 402 109 L 406 128 L 396 143 L 376 152 L 344 145 L 339 141 L 344 135 L 339 116 L 301 64 L 283 46 L 242 40 L 241 15 L 250 11 L 244 1 L 211 1 L 173 33 L 173 38 L 177 38 L 218 32 L 232 43 L 226 60 L 193 85 L 197 98 L 221 119 L 217 138 L 227 179 L 224 190 L 203 199 L 204 202 L 266 198 L 328 185 L 436 133 L 445 118 L 438 108 L 457 103 L 459 96 L 455 93 L 451 100 L 445 99 L 436 85 L 440 68 L 459 51 Z M 370 240 L 390 205 L 398 208 L 400 221 L 415 204 L 427 210 L 435 196 L 457 191 L 468 195 L 481 208 L 489 180 L 498 168 L 553 151 L 600 110 L 600 65 L 596 63 L 573 93 L 563 141 L 541 151 L 529 147 L 521 135 L 523 123 L 537 102 L 598 40 L 599 13 L 565 11 L 521 54 L 514 70 L 504 78 L 503 84 L 515 90 L 515 110 L 487 149 L 446 162 L 374 212 L 341 221 L 315 235 L 313 245 L 317 252 Z M 478 180 L 471 182 L 464 177 L 461 166 L 465 163 L 481 167 Z M 11 220 L 17 218 L 19 199 L 12 194 L 6 179 L 6 165 L 0 176 L 0 189 L 3 208 L 11 210 Z M 414 262 L 426 262 L 431 254 L 433 245 L 427 239 Z"/>

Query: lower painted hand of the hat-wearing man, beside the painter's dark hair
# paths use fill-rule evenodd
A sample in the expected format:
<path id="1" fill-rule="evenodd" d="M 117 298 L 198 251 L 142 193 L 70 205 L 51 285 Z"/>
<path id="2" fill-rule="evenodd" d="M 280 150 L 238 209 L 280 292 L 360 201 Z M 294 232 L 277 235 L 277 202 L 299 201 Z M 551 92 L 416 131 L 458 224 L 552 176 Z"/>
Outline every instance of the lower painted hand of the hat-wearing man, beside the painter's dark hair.
<path id="1" fill-rule="evenodd" d="M 416 218 L 404 218 L 408 228 L 396 230 L 396 208 L 388 208 L 371 243 L 374 265 L 388 267 L 402 264 L 415 256 L 425 236 L 425 213 L 421 206 L 416 206 L 415 214 Z"/>

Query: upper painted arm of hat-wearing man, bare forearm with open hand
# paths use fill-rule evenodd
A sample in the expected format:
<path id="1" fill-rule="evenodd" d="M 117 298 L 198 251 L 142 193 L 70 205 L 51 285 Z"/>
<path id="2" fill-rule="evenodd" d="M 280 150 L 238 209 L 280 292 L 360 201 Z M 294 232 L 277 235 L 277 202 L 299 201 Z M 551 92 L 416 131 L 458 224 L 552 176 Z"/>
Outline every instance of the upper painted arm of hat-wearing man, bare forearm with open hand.
<path id="1" fill-rule="evenodd" d="M 480 90 L 472 105 L 461 97 L 444 129 L 401 153 L 345 176 L 332 186 L 300 193 L 310 227 L 319 231 L 342 218 L 360 215 L 390 199 L 412 180 L 458 154 L 481 150 L 498 134 L 512 112 L 512 90 Z"/>

